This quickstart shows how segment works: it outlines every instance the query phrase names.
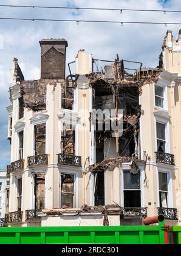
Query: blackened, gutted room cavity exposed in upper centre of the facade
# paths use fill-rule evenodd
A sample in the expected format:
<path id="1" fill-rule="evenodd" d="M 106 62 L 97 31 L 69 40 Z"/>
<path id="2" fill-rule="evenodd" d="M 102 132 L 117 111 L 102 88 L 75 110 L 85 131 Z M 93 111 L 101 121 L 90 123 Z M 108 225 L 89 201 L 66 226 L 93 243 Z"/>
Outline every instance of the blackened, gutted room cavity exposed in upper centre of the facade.
<path id="1" fill-rule="evenodd" d="M 116 92 L 117 91 L 117 92 Z M 116 96 L 117 93 L 117 96 Z M 141 106 L 139 105 L 139 86 L 135 82 L 107 82 L 99 79 L 93 83 L 93 108 L 98 110 L 116 108 L 123 110 L 123 132 L 118 139 L 118 155 L 135 156 L 139 149 L 139 116 Z M 98 116 L 97 116 L 98 117 Z M 109 118 L 109 117 L 108 117 Z M 109 126 L 107 124 L 109 123 Z M 96 142 L 96 162 L 103 161 L 106 157 L 116 157 L 116 152 L 106 155 L 106 141 L 113 141 L 110 120 L 106 119 L 106 112 L 103 114 L 103 129 L 96 120 L 95 142 Z M 107 130 L 110 127 L 110 130 Z M 112 138 L 112 139 L 111 139 Z M 112 140 L 112 141 L 111 141 Z"/>

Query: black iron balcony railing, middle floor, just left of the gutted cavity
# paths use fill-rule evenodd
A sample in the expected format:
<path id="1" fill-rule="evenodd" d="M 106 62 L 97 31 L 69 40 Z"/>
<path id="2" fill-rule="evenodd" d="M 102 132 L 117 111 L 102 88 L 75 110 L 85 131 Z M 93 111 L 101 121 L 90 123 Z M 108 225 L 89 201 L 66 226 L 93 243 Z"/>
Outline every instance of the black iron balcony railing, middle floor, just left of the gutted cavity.
<path id="1" fill-rule="evenodd" d="M 58 164 L 67 164 L 81 167 L 81 156 L 58 154 Z"/>

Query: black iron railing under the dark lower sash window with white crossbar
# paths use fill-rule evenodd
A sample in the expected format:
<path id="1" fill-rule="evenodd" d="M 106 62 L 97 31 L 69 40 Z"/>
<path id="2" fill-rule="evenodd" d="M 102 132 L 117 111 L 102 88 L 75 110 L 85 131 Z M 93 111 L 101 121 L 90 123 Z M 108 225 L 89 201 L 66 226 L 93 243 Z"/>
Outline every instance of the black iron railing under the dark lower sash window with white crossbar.
<path id="1" fill-rule="evenodd" d="M 147 217 L 147 208 L 141 207 L 121 207 L 122 214 L 121 217 L 129 217 L 129 218 L 140 218 Z"/>

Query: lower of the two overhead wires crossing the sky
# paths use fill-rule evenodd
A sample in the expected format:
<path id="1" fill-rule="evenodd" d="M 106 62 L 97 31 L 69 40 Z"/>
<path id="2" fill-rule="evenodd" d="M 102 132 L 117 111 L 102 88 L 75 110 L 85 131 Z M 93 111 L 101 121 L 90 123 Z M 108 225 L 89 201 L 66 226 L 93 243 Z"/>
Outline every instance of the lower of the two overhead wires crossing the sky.
<path id="1" fill-rule="evenodd" d="M 77 20 L 77 19 L 33 19 L 33 18 L 0 18 L 6 20 L 18 21 L 55 21 L 55 22 L 95 22 L 95 23 L 117 23 L 117 24 L 157 24 L 157 25 L 181 25 L 179 22 L 146 22 L 146 21 L 94 21 L 94 20 Z"/>

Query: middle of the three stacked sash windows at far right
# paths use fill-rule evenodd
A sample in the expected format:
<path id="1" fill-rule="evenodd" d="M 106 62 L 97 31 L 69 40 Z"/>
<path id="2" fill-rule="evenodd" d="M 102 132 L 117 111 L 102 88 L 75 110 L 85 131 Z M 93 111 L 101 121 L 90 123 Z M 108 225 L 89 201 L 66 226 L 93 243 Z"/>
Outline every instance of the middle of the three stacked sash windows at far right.
<path id="1" fill-rule="evenodd" d="M 165 152 L 165 124 L 156 122 L 157 151 Z"/>

